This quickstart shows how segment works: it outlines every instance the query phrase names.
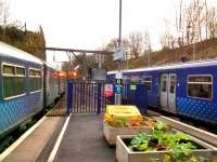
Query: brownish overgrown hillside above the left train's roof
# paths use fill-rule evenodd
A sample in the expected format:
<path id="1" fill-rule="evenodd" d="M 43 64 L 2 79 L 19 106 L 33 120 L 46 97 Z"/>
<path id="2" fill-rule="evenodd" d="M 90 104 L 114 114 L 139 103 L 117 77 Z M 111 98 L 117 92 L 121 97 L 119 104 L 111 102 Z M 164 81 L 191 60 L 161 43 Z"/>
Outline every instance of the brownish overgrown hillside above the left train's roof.
<path id="1" fill-rule="evenodd" d="M 0 41 L 46 60 L 46 41 L 42 29 L 40 28 L 39 30 L 39 32 L 34 32 L 24 31 L 14 26 L 7 28 L 0 26 Z"/>

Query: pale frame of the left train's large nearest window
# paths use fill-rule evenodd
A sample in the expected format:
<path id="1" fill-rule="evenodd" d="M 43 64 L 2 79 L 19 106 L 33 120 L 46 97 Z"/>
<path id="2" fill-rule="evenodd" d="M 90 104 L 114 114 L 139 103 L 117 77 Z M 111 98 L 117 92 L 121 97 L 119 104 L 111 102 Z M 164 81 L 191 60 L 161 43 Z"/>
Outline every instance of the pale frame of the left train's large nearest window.
<path id="1" fill-rule="evenodd" d="M 11 75 L 11 73 L 4 73 L 3 72 L 3 67 L 4 66 L 11 66 L 11 67 L 14 67 L 14 75 Z M 23 68 L 25 70 L 25 75 L 16 75 L 16 67 L 18 68 Z M 2 95 L 2 99 L 3 100 L 9 100 L 9 99 L 13 99 L 13 98 L 17 98 L 17 97 L 22 97 L 22 96 L 25 96 L 26 95 L 26 90 L 24 93 L 21 93 L 18 95 L 12 95 L 10 97 L 4 97 L 3 94 L 4 94 L 4 87 L 3 87 L 3 77 L 11 77 L 11 78 L 26 78 L 27 75 L 26 75 L 26 67 L 25 66 L 22 66 L 22 65 L 17 65 L 17 64 L 13 64 L 13 63 L 1 63 L 1 75 L 2 75 L 2 92 L 1 92 L 1 95 Z M 25 80 L 26 82 L 26 80 Z"/>

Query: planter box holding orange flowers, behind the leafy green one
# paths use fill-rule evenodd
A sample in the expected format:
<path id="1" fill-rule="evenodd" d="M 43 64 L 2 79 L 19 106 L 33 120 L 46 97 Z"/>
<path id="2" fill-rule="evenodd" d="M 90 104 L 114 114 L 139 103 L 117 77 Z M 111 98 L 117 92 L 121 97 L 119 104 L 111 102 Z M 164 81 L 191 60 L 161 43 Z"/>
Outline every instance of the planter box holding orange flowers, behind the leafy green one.
<path id="1" fill-rule="evenodd" d="M 133 127 L 113 127 L 103 122 L 103 134 L 108 145 L 116 144 L 117 135 L 137 135 L 141 132 L 152 134 L 152 127 L 149 126 L 133 126 Z"/>

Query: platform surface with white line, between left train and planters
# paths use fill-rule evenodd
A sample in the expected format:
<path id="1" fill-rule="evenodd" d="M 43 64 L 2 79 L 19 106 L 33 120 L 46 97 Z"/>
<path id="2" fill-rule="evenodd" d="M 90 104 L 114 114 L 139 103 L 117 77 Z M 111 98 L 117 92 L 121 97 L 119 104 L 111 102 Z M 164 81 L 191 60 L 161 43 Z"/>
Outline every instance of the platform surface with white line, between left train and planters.
<path id="1" fill-rule="evenodd" d="M 31 130 L 27 131 L 10 148 L 0 154 L 0 161 L 75 161 L 113 162 L 115 148 L 107 146 L 103 138 L 103 113 L 73 114 L 58 149 L 55 144 L 66 123 L 65 98 L 55 110 L 50 111 Z M 54 158 L 50 158 L 50 157 Z"/>

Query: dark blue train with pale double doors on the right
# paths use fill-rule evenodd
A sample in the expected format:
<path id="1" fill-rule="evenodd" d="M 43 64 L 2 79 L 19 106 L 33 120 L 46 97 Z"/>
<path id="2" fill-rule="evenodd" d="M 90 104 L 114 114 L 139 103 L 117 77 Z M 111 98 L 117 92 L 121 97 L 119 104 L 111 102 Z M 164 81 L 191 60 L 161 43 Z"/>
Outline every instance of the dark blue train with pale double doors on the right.
<path id="1" fill-rule="evenodd" d="M 217 60 L 181 63 L 122 72 L 124 84 L 146 85 L 150 107 L 217 124 Z M 107 79 L 114 80 L 116 73 L 117 71 L 107 72 Z"/>

